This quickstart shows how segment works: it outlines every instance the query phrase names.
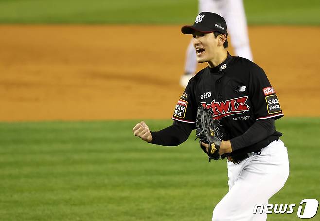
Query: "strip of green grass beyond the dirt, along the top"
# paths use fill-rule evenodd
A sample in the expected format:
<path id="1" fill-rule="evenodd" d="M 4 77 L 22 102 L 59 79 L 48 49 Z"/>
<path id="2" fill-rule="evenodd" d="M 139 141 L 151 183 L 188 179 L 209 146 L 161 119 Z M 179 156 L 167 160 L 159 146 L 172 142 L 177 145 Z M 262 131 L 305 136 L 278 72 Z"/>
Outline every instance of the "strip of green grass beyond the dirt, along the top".
<path id="1" fill-rule="evenodd" d="M 244 0 L 249 24 L 320 24 L 319 0 Z M 0 23 L 189 24 L 197 0 L 0 0 Z"/>

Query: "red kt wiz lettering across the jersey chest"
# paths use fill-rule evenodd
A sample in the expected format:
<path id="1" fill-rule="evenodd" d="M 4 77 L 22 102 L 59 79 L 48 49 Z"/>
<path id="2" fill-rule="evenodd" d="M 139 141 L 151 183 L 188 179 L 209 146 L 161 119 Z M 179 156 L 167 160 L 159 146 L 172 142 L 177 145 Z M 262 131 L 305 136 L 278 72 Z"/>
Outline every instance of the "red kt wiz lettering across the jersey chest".
<path id="1" fill-rule="evenodd" d="M 233 114 L 242 114 L 249 111 L 249 106 L 246 104 L 248 96 L 233 98 L 223 102 L 201 103 L 204 108 L 211 109 L 213 111 L 213 119 L 221 119 Z"/>

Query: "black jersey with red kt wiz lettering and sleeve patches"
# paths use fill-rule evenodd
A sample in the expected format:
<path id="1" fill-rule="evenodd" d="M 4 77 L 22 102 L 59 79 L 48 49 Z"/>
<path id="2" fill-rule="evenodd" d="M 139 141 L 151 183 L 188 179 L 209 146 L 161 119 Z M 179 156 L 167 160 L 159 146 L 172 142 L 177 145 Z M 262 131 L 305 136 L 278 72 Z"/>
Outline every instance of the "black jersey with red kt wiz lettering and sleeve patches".
<path id="1" fill-rule="evenodd" d="M 229 138 L 245 133 L 256 120 L 283 116 L 275 90 L 265 72 L 255 63 L 228 54 L 220 65 L 206 67 L 188 83 L 176 105 L 172 119 L 196 123 L 197 107 L 211 109 L 229 133 Z M 282 134 L 274 133 L 249 149 L 262 148 Z"/>

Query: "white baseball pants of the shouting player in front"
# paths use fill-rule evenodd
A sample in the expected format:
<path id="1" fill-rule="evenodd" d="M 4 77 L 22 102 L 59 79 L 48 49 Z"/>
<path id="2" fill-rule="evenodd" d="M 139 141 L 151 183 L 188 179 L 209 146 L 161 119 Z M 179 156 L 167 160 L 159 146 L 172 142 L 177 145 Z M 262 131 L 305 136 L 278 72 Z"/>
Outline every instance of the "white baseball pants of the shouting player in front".
<path id="1" fill-rule="evenodd" d="M 215 206 L 212 221 L 266 221 L 267 214 L 253 214 L 253 209 L 256 204 L 268 204 L 289 176 L 284 143 L 273 141 L 260 155 L 227 164 L 229 192 Z"/>

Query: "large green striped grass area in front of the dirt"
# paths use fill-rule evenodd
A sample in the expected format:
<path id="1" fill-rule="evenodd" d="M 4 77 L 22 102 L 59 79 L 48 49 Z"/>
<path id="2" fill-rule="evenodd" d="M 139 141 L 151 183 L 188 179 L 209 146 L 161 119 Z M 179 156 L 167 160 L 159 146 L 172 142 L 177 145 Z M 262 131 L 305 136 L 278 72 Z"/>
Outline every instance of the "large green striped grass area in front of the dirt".
<path id="1" fill-rule="evenodd" d="M 133 136 L 135 123 L 0 123 L 0 220 L 210 220 L 228 191 L 225 161 L 208 163 L 194 132 L 178 147 L 147 144 Z M 171 121 L 147 123 L 158 130 Z M 276 125 L 291 171 L 270 203 L 319 200 L 320 119 Z M 295 213 L 268 221 L 300 220 Z"/>

